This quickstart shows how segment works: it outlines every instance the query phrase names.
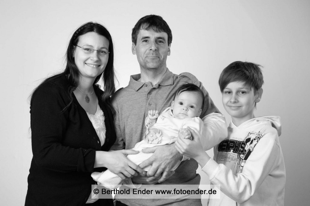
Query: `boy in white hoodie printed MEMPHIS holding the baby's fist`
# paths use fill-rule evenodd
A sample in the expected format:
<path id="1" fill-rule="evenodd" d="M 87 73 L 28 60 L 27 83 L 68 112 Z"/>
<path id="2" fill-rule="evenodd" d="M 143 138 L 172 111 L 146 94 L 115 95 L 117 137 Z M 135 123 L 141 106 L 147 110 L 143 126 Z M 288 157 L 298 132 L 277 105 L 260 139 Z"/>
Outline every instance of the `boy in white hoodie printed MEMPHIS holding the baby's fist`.
<path id="1" fill-rule="evenodd" d="M 179 136 L 178 151 L 194 158 L 210 178 L 220 185 L 220 199 L 209 205 L 283 205 L 286 181 L 279 136 L 280 117 L 254 116 L 263 93 L 260 66 L 233 62 L 221 73 L 219 86 L 225 110 L 231 115 L 228 138 L 214 148 L 214 160 L 193 140 Z M 223 194 L 224 193 L 224 194 Z"/>

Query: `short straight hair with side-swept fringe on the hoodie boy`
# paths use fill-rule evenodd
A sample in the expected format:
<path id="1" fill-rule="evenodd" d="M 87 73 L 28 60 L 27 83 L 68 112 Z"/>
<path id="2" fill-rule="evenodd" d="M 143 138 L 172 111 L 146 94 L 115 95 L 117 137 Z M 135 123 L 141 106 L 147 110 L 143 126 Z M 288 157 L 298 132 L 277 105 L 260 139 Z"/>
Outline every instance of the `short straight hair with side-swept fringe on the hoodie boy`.
<path id="1" fill-rule="evenodd" d="M 219 88 L 223 93 L 225 87 L 231 82 L 244 82 L 250 89 L 254 89 L 254 94 L 262 88 L 264 84 L 263 74 L 259 64 L 251 62 L 232 62 L 219 76 Z"/>

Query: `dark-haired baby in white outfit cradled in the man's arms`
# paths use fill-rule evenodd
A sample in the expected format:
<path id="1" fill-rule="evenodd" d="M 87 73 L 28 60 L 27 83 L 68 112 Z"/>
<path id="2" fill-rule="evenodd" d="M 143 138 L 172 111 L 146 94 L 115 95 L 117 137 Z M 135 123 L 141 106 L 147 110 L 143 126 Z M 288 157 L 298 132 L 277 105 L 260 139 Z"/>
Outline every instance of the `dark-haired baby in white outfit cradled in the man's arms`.
<path id="1" fill-rule="evenodd" d="M 204 105 L 204 95 L 199 87 L 195 84 L 183 84 L 175 92 L 174 101 L 171 106 L 165 109 L 161 115 L 157 110 L 149 110 L 148 117 L 145 119 L 147 131 L 144 140 L 138 142 L 133 150 L 141 151 L 145 148 L 172 144 L 178 138 L 178 132 L 181 129 L 181 135 L 184 139 L 191 139 L 191 134 L 186 129 L 192 128 L 201 136 L 203 130 L 203 122 L 199 118 Z M 151 157 L 153 153 L 140 152 L 135 155 L 127 155 L 126 157 L 139 165 L 144 160 Z M 179 161 L 172 170 L 175 170 L 181 161 Z M 151 166 L 144 168 L 145 171 Z M 118 175 L 106 170 L 102 173 L 94 172 L 91 177 L 109 189 L 120 187 L 123 183 L 122 178 Z M 130 182 L 128 182 L 130 184 Z"/>

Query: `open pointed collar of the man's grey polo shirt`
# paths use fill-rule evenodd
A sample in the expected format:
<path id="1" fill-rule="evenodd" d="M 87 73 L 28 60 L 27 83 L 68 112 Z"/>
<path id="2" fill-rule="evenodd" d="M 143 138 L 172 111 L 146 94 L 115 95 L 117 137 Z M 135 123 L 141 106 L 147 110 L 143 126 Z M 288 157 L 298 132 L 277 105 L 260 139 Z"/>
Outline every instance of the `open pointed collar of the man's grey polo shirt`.
<path id="1" fill-rule="evenodd" d="M 131 75 L 129 80 L 129 85 L 135 90 L 138 91 L 139 88 L 141 88 L 145 82 L 138 82 L 138 80 L 141 78 L 141 74 Z M 169 71 L 167 68 L 165 74 L 163 75 L 162 79 L 158 82 L 159 85 L 167 86 L 173 84 L 173 73 Z M 158 87 L 158 85 L 154 85 L 154 87 Z"/>

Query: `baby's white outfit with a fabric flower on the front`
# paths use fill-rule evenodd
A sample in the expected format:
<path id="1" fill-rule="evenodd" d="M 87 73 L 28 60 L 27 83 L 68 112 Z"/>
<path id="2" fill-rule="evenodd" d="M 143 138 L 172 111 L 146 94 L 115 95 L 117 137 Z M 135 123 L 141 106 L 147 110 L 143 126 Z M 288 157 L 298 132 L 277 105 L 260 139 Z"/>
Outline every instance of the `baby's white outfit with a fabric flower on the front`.
<path id="1" fill-rule="evenodd" d="M 180 129 L 190 127 L 199 136 L 201 136 L 203 131 L 203 122 L 199 117 L 184 119 L 175 118 L 170 107 L 165 109 L 159 115 L 157 121 L 152 121 L 147 117 L 145 119 L 145 125 L 147 127 L 147 131 L 144 134 L 143 140 L 138 142 L 135 147 L 132 148 L 133 150 L 139 151 L 139 153 L 126 156 L 136 165 L 139 165 L 153 155 L 153 153 L 143 153 L 141 151 L 142 149 L 175 143 Z M 175 170 L 180 163 L 181 161 L 178 161 L 178 163 L 171 170 Z M 151 165 L 143 168 L 143 170 L 148 171 L 150 167 Z M 91 177 L 98 182 L 98 185 L 102 185 L 109 189 L 120 187 L 123 183 L 122 178 L 109 170 L 101 173 L 93 172 Z"/>

